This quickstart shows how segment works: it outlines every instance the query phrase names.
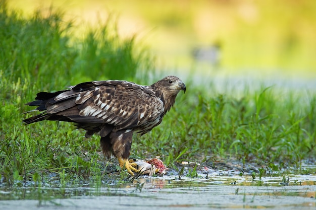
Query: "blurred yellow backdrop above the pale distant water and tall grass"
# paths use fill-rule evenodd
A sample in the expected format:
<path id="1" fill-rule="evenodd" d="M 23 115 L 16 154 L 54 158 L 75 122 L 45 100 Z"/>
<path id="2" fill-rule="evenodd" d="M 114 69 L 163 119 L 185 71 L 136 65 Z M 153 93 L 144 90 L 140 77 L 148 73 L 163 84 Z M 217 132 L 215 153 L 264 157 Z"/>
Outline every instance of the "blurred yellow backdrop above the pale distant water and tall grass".
<path id="1" fill-rule="evenodd" d="M 24 16 L 50 6 L 73 35 L 117 20 L 121 36 L 146 44 L 160 71 L 259 78 L 316 78 L 316 1 L 11 0 Z M 45 10 L 46 9 L 46 10 Z"/>

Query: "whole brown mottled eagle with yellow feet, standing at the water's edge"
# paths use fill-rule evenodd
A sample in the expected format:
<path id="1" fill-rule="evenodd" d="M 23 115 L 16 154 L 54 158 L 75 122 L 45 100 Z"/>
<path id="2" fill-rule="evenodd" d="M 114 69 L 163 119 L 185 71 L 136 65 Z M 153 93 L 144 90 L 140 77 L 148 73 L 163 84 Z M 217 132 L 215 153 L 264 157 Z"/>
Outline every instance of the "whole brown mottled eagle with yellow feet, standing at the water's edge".
<path id="1" fill-rule="evenodd" d="M 185 92 L 186 87 L 175 76 L 151 86 L 118 80 L 81 83 L 70 90 L 38 93 L 27 105 L 43 112 L 23 122 L 68 121 L 85 129 L 86 137 L 99 133 L 104 155 L 117 156 L 120 166 L 133 174 L 138 170 L 127 159 L 133 132 L 145 134 L 159 125 L 181 90 Z"/>

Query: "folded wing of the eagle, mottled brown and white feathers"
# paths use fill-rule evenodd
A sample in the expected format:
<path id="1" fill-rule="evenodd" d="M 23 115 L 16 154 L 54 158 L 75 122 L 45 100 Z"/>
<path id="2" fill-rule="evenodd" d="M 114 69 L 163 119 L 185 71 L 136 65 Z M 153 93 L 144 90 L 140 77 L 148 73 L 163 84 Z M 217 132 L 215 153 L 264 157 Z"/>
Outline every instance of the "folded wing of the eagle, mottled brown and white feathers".
<path id="1" fill-rule="evenodd" d="M 76 122 L 108 123 L 115 126 L 114 130 L 120 130 L 156 121 L 163 112 L 163 102 L 146 86 L 126 81 L 92 83 L 95 85 L 93 89 L 87 90 L 85 84 L 85 91 L 76 97 L 79 115 L 70 116 Z M 80 90 L 80 86 L 74 87 Z M 66 94 L 64 97 L 69 98 Z"/>

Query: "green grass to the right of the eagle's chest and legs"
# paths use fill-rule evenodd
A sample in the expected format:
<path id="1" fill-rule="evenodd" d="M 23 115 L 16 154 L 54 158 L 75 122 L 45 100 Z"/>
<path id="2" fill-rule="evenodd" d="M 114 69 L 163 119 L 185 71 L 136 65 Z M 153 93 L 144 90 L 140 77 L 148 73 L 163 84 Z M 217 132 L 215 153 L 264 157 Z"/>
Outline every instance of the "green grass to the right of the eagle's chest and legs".
<path id="1" fill-rule="evenodd" d="M 149 154 L 177 157 L 189 148 L 183 157 L 190 160 L 220 156 L 295 167 L 315 154 L 315 95 L 306 102 L 295 92 L 282 95 L 273 88 L 240 99 L 196 92 L 188 89 L 165 122 L 143 137 Z"/>

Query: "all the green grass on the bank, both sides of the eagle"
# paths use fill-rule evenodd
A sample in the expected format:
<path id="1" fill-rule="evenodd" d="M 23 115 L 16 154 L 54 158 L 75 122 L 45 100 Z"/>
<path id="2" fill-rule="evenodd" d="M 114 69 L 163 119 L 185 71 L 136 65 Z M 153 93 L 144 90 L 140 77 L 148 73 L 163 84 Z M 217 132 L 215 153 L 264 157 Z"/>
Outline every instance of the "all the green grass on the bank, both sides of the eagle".
<path id="1" fill-rule="evenodd" d="M 25 126 L 22 119 L 32 113 L 21 113 L 30 109 L 24 104 L 39 91 L 103 79 L 148 84 L 150 53 L 133 37 L 120 38 L 111 19 L 76 39 L 69 32 L 72 24 L 58 12 L 23 19 L 1 2 L 0 24 L 5 29 L 0 30 L 1 182 L 57 179 L 64 184 L 109 178 L 103 174 L 109 162 L 100 155 L 98 136 L 85 139 L 82 130 L 67 122 Z M 212 81 L 204 87 L 185 83 L 186 94 L 179 94 L 162 124 L 134 135 L 132 156 L 161 156 L 171 168 L 184 159 L 224 158 L 298 169 L 314 157 L 315 93 L 248 87 L 239 97 L 235 90 L 221 93 Z M 121 173 L 119 179 L 125 177 Z"/>

